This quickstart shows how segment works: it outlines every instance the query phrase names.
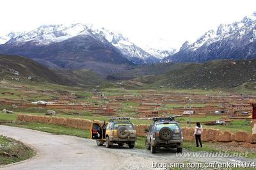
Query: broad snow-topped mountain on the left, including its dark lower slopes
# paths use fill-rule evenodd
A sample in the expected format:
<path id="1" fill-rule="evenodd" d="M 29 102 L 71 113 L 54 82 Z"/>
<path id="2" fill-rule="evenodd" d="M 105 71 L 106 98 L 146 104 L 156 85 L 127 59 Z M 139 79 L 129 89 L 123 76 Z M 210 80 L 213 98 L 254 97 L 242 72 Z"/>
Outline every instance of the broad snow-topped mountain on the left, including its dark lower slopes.
<path id="1" fill-rule="evenodd" d="M 95 70 L 97 66 L 104 67 L 104 63 L 157 63 L 174 52 L 155 49 L 146 52 L 121 33 L 90 24 L 40 26 L 33 31 L 1 36 L 0 43 L 0 52 L 3 54 L 17 54 L 50 67 L 71 69 Z M 102 71 L 106 72 L 104 69 Z"/>

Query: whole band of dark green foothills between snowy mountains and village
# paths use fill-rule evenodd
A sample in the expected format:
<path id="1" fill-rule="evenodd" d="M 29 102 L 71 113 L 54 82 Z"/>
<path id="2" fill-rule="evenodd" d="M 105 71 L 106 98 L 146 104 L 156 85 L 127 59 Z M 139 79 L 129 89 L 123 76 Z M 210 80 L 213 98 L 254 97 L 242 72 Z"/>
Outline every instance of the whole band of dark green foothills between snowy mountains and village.
<path id="1" fill-rule="evenodd" d="M 129 70 L 108 75 L 106 79 L 92 70 L 50 70 L 31 59 L 0 55 L 0 78 L 12 81 L 51 82 L 83 88 L 106 88 L 112 81 L 122 81 L 122 88 L 177 88 L 255 91 L 256 59 L 215 60 L 206 63 L 158 63 L 133 66 Z"/>

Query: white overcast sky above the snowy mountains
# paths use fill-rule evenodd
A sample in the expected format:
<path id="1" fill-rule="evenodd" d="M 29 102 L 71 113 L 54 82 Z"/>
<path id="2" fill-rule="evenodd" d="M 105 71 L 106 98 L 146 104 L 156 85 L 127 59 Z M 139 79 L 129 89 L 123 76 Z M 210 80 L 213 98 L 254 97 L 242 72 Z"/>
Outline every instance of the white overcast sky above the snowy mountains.
<path id="1" fill-rule="evenodd" d="M 0 35 L 81 22 L 119 31 L 141 46 L 179 48 L 255 7 L 255 0 L 1 0 Z"/>

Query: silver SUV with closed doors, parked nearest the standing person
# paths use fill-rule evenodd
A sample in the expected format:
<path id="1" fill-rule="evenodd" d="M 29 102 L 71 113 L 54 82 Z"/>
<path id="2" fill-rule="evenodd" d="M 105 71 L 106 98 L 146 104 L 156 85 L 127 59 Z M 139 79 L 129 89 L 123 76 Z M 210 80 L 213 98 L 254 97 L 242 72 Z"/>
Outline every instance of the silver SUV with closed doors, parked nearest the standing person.
<path id="1" fill-rule="evenodd" d="M 182 152 L 182 128 L 174 120 L 174 117 L 153 118 L 153 121 L 154 123 L 145 129 L 147 132 L 145 141 L 147 150 L 156 153 L 157 148 L 163 147 L 166 149 L 177 148 L 177 152 Z"/>

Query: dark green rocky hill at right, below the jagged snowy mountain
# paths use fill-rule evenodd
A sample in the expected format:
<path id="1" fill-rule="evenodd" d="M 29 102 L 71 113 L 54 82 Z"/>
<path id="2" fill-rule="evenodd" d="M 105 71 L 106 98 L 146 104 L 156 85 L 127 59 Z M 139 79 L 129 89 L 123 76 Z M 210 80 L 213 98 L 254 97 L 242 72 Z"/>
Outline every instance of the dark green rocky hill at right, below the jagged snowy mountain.
<path id="1" fill-rule="evenodd" d="M 169 72 L 161 75 L 137 77 L 124 81 L 125 85 L 137 82 L 138 86 L 165 88 L 242 88 L 256 89 L 256 59 L 216 60 L 206 63 L 173 63 Z"/>

